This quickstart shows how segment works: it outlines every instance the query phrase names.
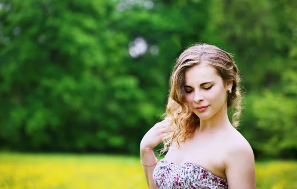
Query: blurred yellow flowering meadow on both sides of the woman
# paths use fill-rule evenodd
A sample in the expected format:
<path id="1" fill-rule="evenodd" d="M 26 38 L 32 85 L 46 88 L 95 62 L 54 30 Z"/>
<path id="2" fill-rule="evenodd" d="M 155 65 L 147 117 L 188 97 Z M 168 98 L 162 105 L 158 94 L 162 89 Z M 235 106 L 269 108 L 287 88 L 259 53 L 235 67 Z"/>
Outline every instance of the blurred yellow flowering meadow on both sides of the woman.
<path id="1" fill-rule="evenodd" d="M 257 189 L 297 189 L 297 161 L 256 163 Z M 0 189 L 148 189 L 139 158 L 0 153 Z"/>

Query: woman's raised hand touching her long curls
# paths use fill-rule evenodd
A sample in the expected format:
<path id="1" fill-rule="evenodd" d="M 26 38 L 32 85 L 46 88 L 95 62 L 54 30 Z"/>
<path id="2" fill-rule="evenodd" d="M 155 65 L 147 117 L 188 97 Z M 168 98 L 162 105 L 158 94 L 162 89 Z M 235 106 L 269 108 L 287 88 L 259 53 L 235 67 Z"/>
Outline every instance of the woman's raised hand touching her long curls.
<path id="1" fill-rule="evenodd" d="M 143 137 L 140 148 L 152 150 L 156 147 L 167 136 L 169 123 L 169 119 L 164 119 L 151 127 Z"/>

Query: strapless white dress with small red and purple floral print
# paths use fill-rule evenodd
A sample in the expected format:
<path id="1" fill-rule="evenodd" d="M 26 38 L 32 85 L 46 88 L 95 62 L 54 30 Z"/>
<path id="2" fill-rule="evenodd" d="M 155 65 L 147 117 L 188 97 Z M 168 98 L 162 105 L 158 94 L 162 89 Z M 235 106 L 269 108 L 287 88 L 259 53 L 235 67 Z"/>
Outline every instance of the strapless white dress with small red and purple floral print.
<path id="1" fill-rule="evenodd" d="M 153 171 L 158 189 L 228 189 L 227 182 L 193 164 L 176 164 L 162 159 Z"/>

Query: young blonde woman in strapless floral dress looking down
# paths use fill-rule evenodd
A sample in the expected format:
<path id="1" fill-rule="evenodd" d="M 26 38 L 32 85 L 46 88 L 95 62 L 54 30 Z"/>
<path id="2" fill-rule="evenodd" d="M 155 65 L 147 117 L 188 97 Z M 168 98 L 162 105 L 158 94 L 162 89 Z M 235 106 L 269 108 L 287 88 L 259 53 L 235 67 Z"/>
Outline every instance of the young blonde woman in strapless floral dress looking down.
<path id="1" fill-rule="evenodd" d="M 241 113 L 238 72 L 232 56 L 213 45 L 194 45 L 180 55 L 166 118 L 140 145 L 150 189 L 255 189 L 253 151 L 235 129 Z M 152 149 L 161 141 L 168 152 L 157 162 Z"/>

